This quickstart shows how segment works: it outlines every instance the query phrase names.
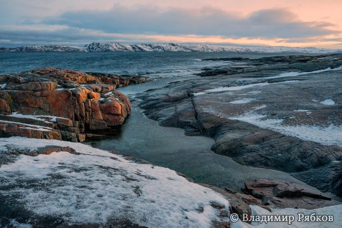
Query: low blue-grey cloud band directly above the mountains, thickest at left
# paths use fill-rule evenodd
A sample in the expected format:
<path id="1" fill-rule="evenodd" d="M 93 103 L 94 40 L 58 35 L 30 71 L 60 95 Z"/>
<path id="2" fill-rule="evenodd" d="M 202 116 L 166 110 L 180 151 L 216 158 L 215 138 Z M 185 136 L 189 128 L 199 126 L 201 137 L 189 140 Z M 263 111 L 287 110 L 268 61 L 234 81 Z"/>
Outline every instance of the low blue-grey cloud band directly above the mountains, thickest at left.
<path id="1" fill-rule="evenodd" d="M 162 36 L 146 34 L 122 34 L 106 33 L 92 29 L 69 28 L 66 26 L 50 26 L 47 30 L 44 27 L 32 26 L 0 26 L 0 47 L 18 47 L 29 45 L 75 45 L 83 46 L 92 42 L 121 42 L 128 44 L 140 43 L 211 43 L 212 36 L 184 35 Z M 234 40 L 233 40 L 234 41 Z M 222 45 L 238 45 L 234 42 L 217 43 Z"/>

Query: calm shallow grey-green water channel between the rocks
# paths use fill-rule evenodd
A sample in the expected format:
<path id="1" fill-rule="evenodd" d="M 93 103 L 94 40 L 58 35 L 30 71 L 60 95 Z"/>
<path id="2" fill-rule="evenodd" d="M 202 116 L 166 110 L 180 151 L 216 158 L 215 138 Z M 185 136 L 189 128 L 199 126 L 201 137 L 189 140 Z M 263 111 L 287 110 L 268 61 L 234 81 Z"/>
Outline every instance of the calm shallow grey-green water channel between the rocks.
<path id="1" fill-rule="evenodd" d="M 149 87 L 150 85 L 145 83 L 119 90 L 125 94 L 134 94 L 134 90 L 141 92 Z M 195 182 L 218 187 L 239 189 L 246 181 L 264 178 L 304 184 L 288 173 L 240 165 L 229 157 L 215 154 L 210 150 L 213 139 L 185 136 L 183 129 L 161 127 L 144 115 L 143 110 L 138 107 L 139 101 L 134 98 L 131 100 L 132 113 L 124 124 L 112 136 L 92 142 L 94 147 L 130 154 L 155 165 L 182 172 Z"/>

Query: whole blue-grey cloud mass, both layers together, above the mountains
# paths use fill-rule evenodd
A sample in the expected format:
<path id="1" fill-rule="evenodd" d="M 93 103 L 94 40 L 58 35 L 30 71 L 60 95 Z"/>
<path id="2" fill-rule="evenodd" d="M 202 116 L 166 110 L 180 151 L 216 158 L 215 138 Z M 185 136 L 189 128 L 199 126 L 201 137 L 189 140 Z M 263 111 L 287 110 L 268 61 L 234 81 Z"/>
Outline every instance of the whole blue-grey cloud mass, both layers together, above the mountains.
<path id="1" fill-rule="evenodd" d="M 83 46 L 91 42 L 113 41 L 238 46 L 302 43 L 303 46 L 308 42 L 310 45 L 317 42 L 330 42 L 332 45 L 332 42 L 341 41 L 336 35 L 341 31 L 332 29 L 333 24 L 303 22 L 293 12 L 281 8 L 258 10 L 245 16 L 211 6 L 188 9 L 137 4 L 130 7 L 115 4 L 109 10 L 61 12 L 57 16 L 39 14 L 35 19 L 22 17 L 16 26 L 0 26 L 0 46 Z"/>

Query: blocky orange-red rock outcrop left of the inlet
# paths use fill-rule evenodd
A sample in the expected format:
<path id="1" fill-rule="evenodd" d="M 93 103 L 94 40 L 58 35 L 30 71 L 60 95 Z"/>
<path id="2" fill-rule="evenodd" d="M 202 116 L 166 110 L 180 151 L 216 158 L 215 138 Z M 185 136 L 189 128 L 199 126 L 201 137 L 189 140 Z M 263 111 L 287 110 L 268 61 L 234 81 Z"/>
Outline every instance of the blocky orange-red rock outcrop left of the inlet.
<path id="1" fill-rule="evenodd" d="M 82 142 L 93 136 L 87 132 L 120 125 L 130 114 L 116 87 L 146 79 L 56 68 L 0 75 L 0 136 Z"/>

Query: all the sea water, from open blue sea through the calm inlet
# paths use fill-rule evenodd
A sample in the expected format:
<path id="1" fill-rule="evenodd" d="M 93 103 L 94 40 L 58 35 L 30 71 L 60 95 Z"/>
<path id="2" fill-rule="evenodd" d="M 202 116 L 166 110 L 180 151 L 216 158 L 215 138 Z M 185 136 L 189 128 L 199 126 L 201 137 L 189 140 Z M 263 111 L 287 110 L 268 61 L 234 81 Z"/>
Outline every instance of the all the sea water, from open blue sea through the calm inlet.
<path id="1" fill-rule="evenodd" d="M 0 53 L 0 74 L 56 67 L 115 74 L 140 74 L 151 82 L 118 88 L 132 98 L 132 114 L 113 136 L 92 142 L 105 150 L 148 160 L 155 165 L 183 172 L 196 182 L 218 187 L 243 187 L 244 181 L 276 178 L 302 183 L 287 173 L 242 166 L 231 158 L 210 150 L 213 139 L 184 136 L 184 130 L 159 126 L 147 119 L 134 101 L 134 94 L 160 88 L 171 81 L 196 79 L 203 68 L 235 64 L 224 61 L 200 61 L 205 58 L 261 58 L 299 53 L 205 53 L 205 52 L 117 52 L 117 53 Z M 309 55 L 309 54 L 308 54 Z M 315 54 L 310 54 L 315 55 Z M 303 183 L 302 183 L 303 184 Z"/>

